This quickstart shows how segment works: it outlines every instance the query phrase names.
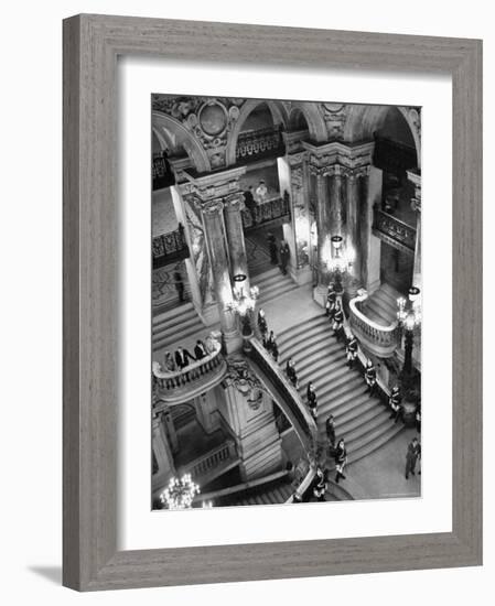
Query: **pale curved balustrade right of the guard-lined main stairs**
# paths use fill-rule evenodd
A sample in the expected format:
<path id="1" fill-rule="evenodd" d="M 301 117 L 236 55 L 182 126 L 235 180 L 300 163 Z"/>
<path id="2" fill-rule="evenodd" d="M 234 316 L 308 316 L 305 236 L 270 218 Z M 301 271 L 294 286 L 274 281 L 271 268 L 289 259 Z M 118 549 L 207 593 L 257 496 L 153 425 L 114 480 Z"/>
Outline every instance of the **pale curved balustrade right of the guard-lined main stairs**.
<path id="1" fill-rule="evenodd" d="M 381 326 L 367 317 L 359 309 L 366 301 L 368 293 L 359 291 L 358 295 L 349 302 L 349 325 L 355 335 L 366 347 L 377 356 L 390 357 L 399 344 L 399 326 L 392 322 L 389 326 Z"/>

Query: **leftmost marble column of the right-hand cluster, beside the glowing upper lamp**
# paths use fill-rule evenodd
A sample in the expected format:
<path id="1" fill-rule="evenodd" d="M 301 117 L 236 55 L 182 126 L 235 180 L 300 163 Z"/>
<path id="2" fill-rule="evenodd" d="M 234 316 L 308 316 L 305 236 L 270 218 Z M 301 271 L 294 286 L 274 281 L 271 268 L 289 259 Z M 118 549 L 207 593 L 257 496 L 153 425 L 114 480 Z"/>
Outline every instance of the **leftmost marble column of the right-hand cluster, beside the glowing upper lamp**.
<path id="1" fill-rule="evenodd" d="M 314 290 L 314 300 L 325 305 L 326 289 L 329 285 L 327 263 L 332 257 L 332 216 L 329 199 L 329 182 L 322 169 L 312 167 L 316 175 L 316 229 L 318 229 L 318 286 Z"/>

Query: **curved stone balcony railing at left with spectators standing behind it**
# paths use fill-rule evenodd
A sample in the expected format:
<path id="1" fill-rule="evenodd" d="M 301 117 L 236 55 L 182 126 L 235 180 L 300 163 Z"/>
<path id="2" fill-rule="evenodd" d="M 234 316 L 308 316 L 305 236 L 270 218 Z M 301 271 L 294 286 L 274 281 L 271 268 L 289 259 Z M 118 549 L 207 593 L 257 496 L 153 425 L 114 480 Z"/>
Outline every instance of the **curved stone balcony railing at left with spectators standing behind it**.
<path id="1" fill-rule="evenodd" d="M 211 339 L 212 351 L 175 372 L 164 370 L 153 361 L 154 412 L 165 405 L 180 404 L 218 385 L 227 372 L 227 364 L 222 356 L 220 344 Z"/>

